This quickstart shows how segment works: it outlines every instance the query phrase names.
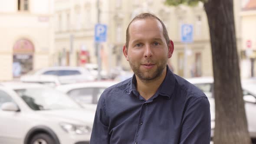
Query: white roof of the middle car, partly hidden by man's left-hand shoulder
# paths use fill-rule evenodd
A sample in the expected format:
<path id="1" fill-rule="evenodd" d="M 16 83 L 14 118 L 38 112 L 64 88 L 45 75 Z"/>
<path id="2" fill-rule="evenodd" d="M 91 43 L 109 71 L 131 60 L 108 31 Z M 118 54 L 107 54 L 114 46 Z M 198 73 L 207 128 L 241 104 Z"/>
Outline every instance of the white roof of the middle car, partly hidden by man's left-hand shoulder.
<path id="1" fill-rule="evenodd" d="M 73 83 L 73 84 L 59 85 L 59 86 L 56 86 L 56 89 L 61 90 L 63 92 L 68 92 L 68 91 L 70 91 L 72 89 L 76 89 L 76 88 L 91 88 L 91 87 L 108 88 L 117 83 L 118 83 L 118 81 L 79 82 L 79 83 Z"/>

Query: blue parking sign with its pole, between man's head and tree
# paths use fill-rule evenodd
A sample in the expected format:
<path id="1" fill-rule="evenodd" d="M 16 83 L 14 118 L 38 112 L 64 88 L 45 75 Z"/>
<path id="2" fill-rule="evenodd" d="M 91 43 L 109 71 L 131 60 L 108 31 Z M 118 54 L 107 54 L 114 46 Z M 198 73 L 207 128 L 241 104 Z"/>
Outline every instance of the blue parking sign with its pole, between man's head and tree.
<path id="1" fill-rule="evenodd" d="M 193 25 L 181 25 L 181 42 L 185 43 L 184 46 L 184 77 L 187 77 L 187 43 L 193 42 Z"/>

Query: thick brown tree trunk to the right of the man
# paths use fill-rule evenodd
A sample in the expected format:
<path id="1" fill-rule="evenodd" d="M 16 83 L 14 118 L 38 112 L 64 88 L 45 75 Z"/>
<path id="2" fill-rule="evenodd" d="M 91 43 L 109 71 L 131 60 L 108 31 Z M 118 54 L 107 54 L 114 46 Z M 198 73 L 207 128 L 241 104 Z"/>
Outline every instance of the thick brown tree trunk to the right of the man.
<path id="1" fill-rule="evenodd" d="M 250 144 L 243 93 L 233 0 L 208 0 L 204 4 L 210 28 L 213 58 L 215 132 L 214 144 Z"/>

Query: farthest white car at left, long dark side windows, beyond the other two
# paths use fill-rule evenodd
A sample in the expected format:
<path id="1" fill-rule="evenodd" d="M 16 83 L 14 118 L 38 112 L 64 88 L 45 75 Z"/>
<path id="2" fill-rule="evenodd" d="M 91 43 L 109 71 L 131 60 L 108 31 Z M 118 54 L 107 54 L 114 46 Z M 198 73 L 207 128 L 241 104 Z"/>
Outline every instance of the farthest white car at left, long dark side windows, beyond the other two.
<path id="1" fill-rule="evenodd" d="M 71 66 L 48 67 L 37 71 L 32 71 L 21 76 L 20 80 L 22 82 L 41 82 L 42 75 L 54 75 L 57 77 L 60 84 L 95 80 L 95 77 L 87 69 Z"/>

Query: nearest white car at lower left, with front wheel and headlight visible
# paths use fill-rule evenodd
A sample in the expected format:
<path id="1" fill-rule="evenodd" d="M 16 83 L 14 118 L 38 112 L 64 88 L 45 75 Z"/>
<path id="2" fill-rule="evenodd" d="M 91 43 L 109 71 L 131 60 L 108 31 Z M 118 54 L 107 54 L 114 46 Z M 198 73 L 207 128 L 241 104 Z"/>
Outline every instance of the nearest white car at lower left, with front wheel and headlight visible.
<path id="1" fill-rule="evenodd" d="M 49 86 L 0 84 L 0 144 L 89 144 L 94 115 Z"/>

